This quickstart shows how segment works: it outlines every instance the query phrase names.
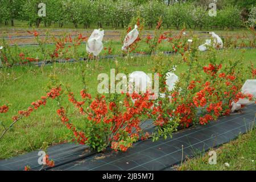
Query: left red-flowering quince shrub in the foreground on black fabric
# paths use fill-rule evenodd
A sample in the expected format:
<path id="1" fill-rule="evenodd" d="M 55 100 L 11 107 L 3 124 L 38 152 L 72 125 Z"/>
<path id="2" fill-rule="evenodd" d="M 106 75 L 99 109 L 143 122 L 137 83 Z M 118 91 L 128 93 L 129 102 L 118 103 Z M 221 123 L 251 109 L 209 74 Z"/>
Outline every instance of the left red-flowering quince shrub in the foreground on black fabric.
<path id="1" fill-rule="evenodd" d="M 79 131 L 73 126 L 64 107 L 57 110 L 57 114 L 73 132 L 78 143 L 88 144 L 93 151 L 102 151 L 108 146 L 113 150 L 126 151 L 139 137 L 148 137 L 148 134 L 142 134 L 141 123 L 150 116 L 153 105 L 150 95 L 114 94 L 108 98 L 97 96 L 92 99 L 86 89 L 83 89 L 80 93 L 82 101 L 77 101 L 74 94 L 69 92 L 68 100 L 84 117 L 85 131 Z M 134 104 L 131 98 L 136 99 Z"/>

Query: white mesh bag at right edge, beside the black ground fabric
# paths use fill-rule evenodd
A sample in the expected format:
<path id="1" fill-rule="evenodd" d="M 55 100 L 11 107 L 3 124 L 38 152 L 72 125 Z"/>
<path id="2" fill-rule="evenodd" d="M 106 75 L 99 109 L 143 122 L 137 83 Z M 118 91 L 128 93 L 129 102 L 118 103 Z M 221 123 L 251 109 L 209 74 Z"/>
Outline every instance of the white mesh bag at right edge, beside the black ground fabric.
<path id="1" fill-rule="evenodd" d="M 251 94 L 253 98 L 256 98 L 256 80 L 246 80 L 245 84 L 242 86 L 243 94 Z M 253 104 L 254 101 L 249 101 L 247 98 L 238 100 L 238 102 L 232 102 L 232 112 L 241 109 L 242 105 Z"/>

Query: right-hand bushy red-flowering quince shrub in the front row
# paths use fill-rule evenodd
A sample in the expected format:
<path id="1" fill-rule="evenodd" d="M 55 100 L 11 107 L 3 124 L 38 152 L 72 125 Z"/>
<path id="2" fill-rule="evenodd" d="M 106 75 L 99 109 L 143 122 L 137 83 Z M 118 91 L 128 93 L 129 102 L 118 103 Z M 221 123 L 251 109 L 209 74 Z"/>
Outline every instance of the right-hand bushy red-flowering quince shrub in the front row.
<path id="1" fill-rule="evenodd" d="M 181 74 L 171 96 L 172 114 L 180 119 L 180 125 L 188 127 L 193 123 L 207 124 L 222 115 L 230 113 L 232 101 L 253 98 L 241 93 L 246 76 L 238 63 L 217 63 L 215 52 L 209 52 L 208 65 L 196 59 L 196 49 L 191 50 L 186 64 L 189 70 Z M 251 76 L 247 75 L 247 78 Z"/>

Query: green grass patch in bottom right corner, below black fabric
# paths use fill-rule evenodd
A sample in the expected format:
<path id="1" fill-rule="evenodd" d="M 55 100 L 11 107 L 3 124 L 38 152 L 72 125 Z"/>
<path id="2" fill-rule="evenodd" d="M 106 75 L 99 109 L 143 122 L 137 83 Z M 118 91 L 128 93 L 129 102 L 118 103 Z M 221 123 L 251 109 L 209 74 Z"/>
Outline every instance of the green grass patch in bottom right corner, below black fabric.
<path id="1" fill-rule="evenodd" d="M 226 143 L 220 148 L 213 149 L 217 154 L 217 164 L 208 163 L 209 155 L 201 154 L 196 158 L 187 159 L 182 166 L 177 167 L 180 170 L 220 170 L 220 171 L 248 171 L 256 170 L 256 129 L 250 130 L 238 139 Z M 229 164 L 229 167 L 225 165 Z"/>

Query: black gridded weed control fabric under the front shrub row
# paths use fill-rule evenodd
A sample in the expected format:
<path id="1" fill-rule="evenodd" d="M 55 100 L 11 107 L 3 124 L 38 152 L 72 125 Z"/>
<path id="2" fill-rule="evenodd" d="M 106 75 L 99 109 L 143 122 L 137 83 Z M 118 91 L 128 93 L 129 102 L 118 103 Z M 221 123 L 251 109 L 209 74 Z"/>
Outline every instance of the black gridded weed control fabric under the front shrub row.
<path id="1" fill-rule="evenodd" d="M 254 127 L 256 105 L 247 106 L 243 113 L 234 113 L 206 126 L 198 126 L 175 133 L 173 138 L 157 142 L 144 140 L 134 144 L 127 152 L 107 150 L 91 154 L 88 147 L 60 144 L 48 148 L 49 158 L 55 160 L 54 168 L 48 170 L 170 170 L 185 156 L 220 146 L 246 133 Z M 183 158 L 182 158 L 183 157 Z M 38 151 L 13 159 L 0 160 L 0 170 L 23 170 L 31 166 L 38 170 Z"/>

